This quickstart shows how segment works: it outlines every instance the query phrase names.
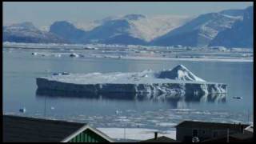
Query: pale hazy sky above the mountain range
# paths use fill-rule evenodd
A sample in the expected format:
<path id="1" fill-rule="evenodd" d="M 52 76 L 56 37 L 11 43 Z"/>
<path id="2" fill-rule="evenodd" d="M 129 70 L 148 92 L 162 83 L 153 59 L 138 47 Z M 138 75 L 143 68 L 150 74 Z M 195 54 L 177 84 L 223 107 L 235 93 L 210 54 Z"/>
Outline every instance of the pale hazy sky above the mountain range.
<path id="1" fill-rule="evenodd" d="M 198 15 L 244 9 L 253 2 L 3 2 L 3 24 L 33 22 L 49 26 L 58 20 L 88 22 L 120 14 Z"/>

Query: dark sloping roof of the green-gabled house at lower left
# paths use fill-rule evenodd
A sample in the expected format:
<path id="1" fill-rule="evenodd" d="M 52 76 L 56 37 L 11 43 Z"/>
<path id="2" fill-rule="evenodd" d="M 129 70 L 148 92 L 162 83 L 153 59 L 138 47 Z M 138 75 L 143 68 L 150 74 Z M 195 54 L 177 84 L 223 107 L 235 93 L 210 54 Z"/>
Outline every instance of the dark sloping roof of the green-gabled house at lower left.
<path id="1" fill-rule="evenodd" d="M 61 142 L 85 123 L 3 115 L 3 142 Z"/>

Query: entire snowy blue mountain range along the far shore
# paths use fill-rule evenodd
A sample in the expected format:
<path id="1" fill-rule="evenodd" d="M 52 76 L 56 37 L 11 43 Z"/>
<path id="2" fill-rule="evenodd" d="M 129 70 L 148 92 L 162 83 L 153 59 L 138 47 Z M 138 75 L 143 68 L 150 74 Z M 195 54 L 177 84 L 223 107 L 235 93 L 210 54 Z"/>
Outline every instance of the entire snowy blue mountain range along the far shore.
<path id="1" fill-rule="evenodd" d="M 195 18 L 128 14 L 93 22 L 58 21 L 40 30 L 24 22 L 3 26 L 3 36 L 4 41 L 10 42 L 252 47 L 253 6 Z"/>

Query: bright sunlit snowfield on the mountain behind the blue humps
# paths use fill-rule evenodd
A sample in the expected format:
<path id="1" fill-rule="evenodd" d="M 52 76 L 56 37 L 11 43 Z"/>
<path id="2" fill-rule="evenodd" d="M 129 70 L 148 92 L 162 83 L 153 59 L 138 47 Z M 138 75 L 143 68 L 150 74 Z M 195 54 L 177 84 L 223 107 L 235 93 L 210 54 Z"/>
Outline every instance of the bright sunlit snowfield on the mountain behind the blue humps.
<path id="1" fill-rule="evenodd" d="M 130 28 L 127 29 L 126 32 L 128 32 L 131 37 L 150 42 L 152 39 L 166 34 L 178 26 L 182 26 L 182 24 L 188 22 L 190 19 L 191 18 L 188 16 L 180 15 L 145 16 L 142 14 L 127 14 L 108 17 L 93 22 L 76 22 L 74 25 L 79 29 L 90 31 L 98 26 L 105 25 L 107 22 L 125 20 L 130 25 Z"/>

